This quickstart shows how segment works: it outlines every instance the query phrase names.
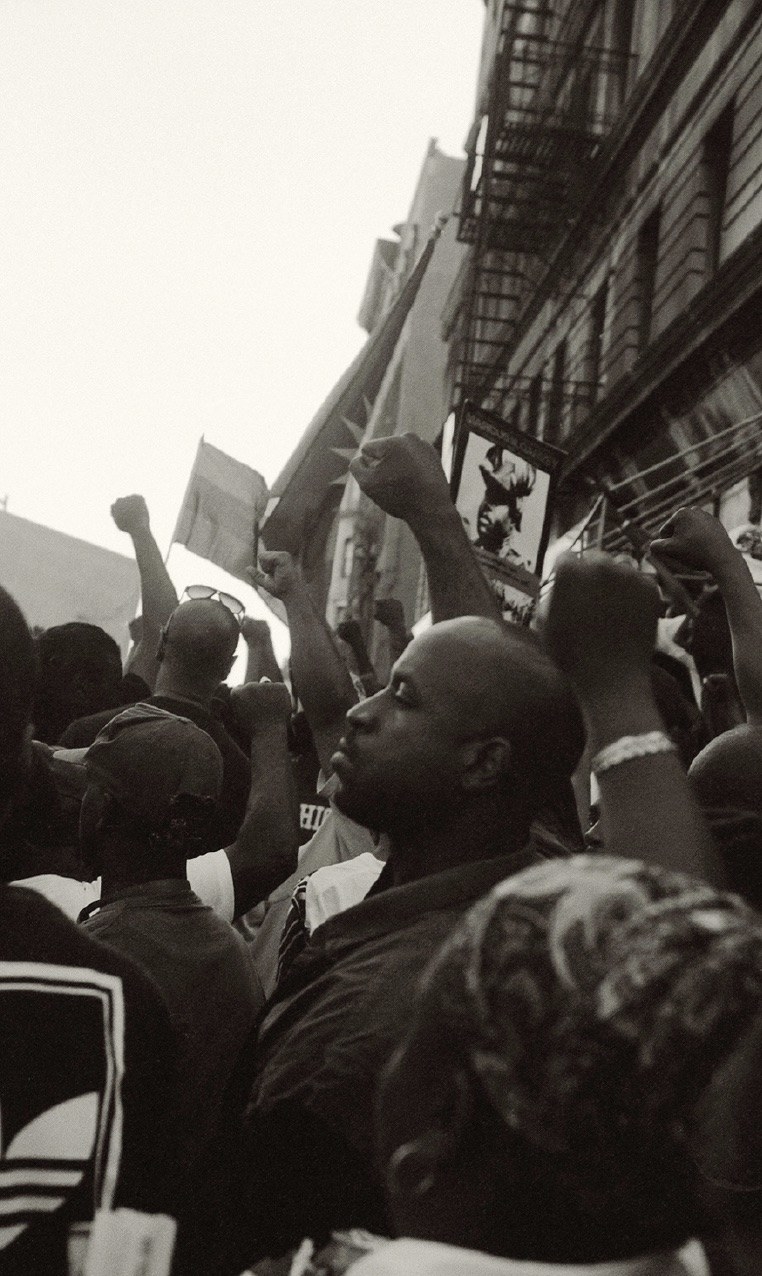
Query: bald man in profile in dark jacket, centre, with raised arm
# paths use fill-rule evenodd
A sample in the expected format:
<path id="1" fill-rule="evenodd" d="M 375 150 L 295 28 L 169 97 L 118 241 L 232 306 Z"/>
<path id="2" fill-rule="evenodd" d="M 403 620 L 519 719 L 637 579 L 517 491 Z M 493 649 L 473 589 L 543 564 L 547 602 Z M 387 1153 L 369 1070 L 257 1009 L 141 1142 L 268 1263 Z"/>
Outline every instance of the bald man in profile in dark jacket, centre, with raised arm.
<path id="1" fill-rule="evenodd" d="M 231 1196 L 241 1265 L 336 1228 L 388 1230 L 374 1097 L 414 988 L 461 915 L 537 860 L 530 826 L 582 752 L 564 678 L 535 635 L 495 618 L 433 449 L 384 440 L 382 459 L 392 462 L 385 491 L 407 482 L 438 533 L 442 570 L 426 558 L 435 619 L 453 569 L 482 614 L 451 611 L 346 716 L 334 801 L 387 833 L 391 854 L 366 897 L 311 934 L 260 1026 Z"/>

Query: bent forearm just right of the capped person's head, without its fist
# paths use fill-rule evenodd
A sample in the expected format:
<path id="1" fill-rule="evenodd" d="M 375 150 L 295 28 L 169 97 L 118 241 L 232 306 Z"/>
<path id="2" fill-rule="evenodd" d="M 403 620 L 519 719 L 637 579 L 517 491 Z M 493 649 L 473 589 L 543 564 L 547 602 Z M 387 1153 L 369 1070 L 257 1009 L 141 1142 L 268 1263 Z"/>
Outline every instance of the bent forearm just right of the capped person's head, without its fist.
<path id="1" fill-rule="evenodd" d="M 251 787 L 239 836 L 227 849 L 236 916 L 265 900 L 296 868 L 299 804 L 286 743 L 286 723 L 251 739 Z"/>

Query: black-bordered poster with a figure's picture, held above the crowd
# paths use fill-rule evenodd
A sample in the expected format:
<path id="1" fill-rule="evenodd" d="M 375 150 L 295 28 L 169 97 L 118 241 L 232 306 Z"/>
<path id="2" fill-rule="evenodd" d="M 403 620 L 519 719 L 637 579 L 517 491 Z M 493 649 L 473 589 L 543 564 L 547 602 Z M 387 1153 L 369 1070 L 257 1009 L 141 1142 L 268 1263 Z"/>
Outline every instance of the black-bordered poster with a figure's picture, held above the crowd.
<path id="1" fill-rule="evenodd" d="M 463 404 L 452 498 L 508 619 L 527 623 L 531 615 L 563 459 L 558 448 Z"/>

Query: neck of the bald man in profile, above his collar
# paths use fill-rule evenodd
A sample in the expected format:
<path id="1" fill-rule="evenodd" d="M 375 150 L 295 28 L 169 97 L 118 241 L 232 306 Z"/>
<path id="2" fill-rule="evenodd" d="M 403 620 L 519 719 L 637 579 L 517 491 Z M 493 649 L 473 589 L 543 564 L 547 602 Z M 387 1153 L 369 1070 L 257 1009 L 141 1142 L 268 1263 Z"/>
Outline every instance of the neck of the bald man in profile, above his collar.
<path id="1" fill-rule="evenodd" d="M 465 808 L 445 826 L 389 832 L 389 869 L 394 886 L 417 882 L 498 855 L 512 855 L 526 845 L 528 827 L 523 817 L 512 818 L 500 808 Z"/>

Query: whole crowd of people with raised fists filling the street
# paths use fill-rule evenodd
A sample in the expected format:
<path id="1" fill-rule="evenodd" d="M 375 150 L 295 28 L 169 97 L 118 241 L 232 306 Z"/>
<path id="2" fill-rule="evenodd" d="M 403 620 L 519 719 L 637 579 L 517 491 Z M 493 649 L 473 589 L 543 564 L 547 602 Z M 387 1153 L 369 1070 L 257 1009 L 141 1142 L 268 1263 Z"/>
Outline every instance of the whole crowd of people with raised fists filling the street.
<path id="1" fill-rule="evenodd" d="M 385 686 L 268 551 L 285 683 L 236 598 L 177 598 L 140 496 L 124 670 L 0 590 L 0 1272 L 111 1276 L 160 1216 L 176 1276 L 759 1276 L 742 554 L 680 509 L 689 620 L 587 553 L 517 628 L 429 444 L 352 473 L 428 573 L 421 635 L 377 605 Z"/>

